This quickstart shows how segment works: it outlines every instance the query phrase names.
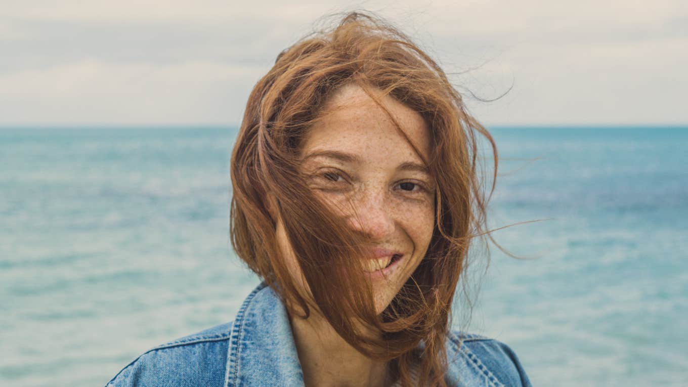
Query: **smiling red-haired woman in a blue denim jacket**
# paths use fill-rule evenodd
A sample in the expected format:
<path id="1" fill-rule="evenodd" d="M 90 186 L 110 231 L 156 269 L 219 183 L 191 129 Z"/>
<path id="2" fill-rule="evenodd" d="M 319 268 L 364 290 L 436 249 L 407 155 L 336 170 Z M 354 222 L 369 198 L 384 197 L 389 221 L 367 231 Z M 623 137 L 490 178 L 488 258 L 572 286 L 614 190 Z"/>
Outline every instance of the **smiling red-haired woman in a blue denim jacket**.
<path id="1" fill-rule="evenodd" d="M 530 386 L 508 346 L 449 329 L 484 234 L 478 135 L 497 160 L 440 67 L 375 17 L 281 52 L 231 161 L 233 247 L 263 282 L 109 386 Z"/>

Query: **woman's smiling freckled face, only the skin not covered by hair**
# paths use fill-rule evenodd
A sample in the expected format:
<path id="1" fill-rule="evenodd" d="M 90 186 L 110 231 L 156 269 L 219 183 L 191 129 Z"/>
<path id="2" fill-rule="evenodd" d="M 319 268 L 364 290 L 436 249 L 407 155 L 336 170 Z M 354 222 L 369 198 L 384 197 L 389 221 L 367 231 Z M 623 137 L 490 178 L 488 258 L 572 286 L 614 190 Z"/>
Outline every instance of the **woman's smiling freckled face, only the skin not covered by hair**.
<path id="1" fill-rule="evenodd" d="M 374 90 L 379 92 L 378 90 Z M 417 112 L 389 96 L 383 105 L 428 159 L 430 135 Z M 324 202 L 369 241 L 369 275 L 381 313 L 424 257 L 434 226 L 434 182 L 422 159 L 361 87 L 336 90 L 303 139 L 301 172 Z M 305 283 L 281 220 L 277 238 L 305 294 Z"/>

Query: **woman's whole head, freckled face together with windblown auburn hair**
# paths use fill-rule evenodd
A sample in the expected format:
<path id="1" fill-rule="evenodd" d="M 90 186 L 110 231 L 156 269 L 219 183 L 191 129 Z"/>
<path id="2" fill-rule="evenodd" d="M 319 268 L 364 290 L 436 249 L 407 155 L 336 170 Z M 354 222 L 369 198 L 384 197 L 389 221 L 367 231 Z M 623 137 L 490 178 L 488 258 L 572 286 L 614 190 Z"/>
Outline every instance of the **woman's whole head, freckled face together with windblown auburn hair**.
<path id="1" fill-rule="evenodd" d="M 444 386 L 453 296 L 485 226 L 481 134 L 496 176 L 491 136 L 440 67 L 384 21 L 347 14 L 281 52 L 248 98 L 233 247 L 290 310 L 392 359 L 406 384 L 420 364 Z"/>

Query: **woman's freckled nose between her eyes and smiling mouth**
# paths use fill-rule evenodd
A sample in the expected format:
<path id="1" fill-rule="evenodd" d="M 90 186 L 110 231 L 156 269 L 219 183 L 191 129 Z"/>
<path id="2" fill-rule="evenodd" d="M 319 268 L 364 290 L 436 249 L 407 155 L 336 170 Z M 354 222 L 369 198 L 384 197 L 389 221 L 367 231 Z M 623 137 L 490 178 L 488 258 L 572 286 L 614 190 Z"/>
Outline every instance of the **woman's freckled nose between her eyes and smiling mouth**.
<path id="1" fill-rule="evenodd" d="M 383 240 L 394 232 L 394 209 L 383 193 L 363 193 L 352 200 L 350 227 L 372 240 Z"/>

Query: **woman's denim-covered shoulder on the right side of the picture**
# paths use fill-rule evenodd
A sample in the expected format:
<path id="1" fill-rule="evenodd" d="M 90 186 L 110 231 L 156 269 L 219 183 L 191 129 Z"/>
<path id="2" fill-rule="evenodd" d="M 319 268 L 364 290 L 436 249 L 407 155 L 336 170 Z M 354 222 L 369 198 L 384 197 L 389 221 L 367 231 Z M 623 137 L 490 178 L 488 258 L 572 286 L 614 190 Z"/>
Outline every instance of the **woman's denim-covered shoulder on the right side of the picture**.
<path id="1" fill-rule="evenodd" d="M 481 386 L 531 386 L 516 353 L 497 339 L 453 331 L 447 346 L 450 371 L 461 379 Z"/>

